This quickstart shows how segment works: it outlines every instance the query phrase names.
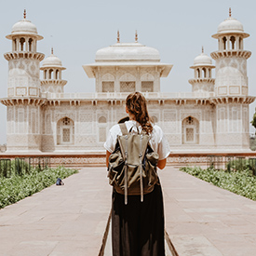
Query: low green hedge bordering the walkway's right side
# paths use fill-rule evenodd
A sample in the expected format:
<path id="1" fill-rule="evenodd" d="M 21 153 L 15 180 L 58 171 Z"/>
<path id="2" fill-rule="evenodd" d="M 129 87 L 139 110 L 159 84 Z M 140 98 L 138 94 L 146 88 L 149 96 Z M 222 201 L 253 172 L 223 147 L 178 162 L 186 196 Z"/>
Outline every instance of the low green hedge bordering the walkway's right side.
<path id="1" fill-rule="evenodd" d="M 202 169 L 199 167 L 184 167 L 181 170 L 237 195 L 256 200 L 256 178 L 250 170 L 227 172 L 214 168 Z"/>

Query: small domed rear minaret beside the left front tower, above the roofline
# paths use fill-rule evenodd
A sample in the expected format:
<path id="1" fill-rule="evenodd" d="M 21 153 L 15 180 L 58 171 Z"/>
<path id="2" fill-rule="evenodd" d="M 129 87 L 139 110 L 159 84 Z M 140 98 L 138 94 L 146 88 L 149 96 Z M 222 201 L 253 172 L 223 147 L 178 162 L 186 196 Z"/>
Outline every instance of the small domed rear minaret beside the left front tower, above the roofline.
<path id="1" fill-rule="evenodd" d="M 67 81 L 61 79 L 61 72 L 65 69 L 62 66 L 61 60 L 53 54 L 53 48 L 51 48 L 51 55 L 42 62 L 42 67 L 40 68 L 43 71 L 41 91 L 64 92 L 64 86 L 67 84 Z"/>

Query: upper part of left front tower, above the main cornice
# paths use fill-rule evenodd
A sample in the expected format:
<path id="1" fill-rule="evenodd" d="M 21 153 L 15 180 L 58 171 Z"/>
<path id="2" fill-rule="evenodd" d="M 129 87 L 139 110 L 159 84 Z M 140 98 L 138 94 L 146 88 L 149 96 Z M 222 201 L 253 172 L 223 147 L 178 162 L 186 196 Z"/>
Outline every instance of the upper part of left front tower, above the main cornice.
<path id="1" fill-rule="evenodd" d="M 7 39 L 12 40 L 12 51 L 4 56 L 8 61 L 8 97 L 40 96 L 40 61 L 45 55 L 36 52 L 37 41 L 43 36 L 37 34 L 35 25 L 24 18 L 15 23 Z"/>

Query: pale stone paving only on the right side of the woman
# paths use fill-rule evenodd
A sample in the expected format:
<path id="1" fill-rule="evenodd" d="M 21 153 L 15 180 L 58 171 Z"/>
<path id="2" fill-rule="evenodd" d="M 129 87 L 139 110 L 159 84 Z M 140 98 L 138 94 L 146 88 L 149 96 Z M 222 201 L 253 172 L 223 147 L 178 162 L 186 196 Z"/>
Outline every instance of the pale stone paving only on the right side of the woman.
<path id="1" fill-rule="evenodd" d="M 176 168 L 159 172 L 166 229 L 181 256 L 256 255 L 256 202 Z"/>

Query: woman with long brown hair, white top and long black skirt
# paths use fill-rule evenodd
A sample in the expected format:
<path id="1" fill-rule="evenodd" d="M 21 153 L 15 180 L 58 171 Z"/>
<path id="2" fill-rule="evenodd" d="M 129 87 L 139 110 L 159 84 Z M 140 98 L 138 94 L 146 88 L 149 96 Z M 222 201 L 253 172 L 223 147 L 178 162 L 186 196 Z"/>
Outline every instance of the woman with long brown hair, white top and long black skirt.
<path id="1" fill-rule="evenodd" d="M 140 92 L 128 95 L 126 112 L 129 120 L 125 122 L 128 130 L 143 129 L 150 135 L 150 144 L 158 153 L 158 168 L 165 168 L 170 153 L 168 141 L 163 131 L 153 125 L 147 112 L 146 100 Z M 106 164 L 115 150 L 117 135 L 122 135 L 119 125 L 110 129 L 106 149 Z M 114 256 L 164 256 L 164 209 L 161 186 L 155 184 L 154 191 L 144 195 L 128 195 L 128 205 L 124 195 L 113 190 L 112 206 L 112 245 Z"/>

